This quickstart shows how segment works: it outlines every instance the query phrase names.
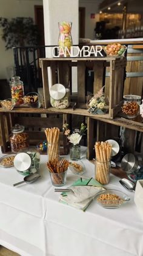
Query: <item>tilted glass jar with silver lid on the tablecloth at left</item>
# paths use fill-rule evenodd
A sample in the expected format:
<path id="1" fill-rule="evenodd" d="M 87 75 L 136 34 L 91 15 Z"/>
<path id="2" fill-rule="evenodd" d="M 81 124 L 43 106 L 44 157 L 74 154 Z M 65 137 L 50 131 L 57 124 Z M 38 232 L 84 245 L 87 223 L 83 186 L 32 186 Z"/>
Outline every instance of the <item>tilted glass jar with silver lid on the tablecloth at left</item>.
<path id="1" fill-rule="evenodd" d="M 14 166 L 22 175 L 39 172 L 40 153 L 32 147 L 22 149 L 15 157 Z"/>

